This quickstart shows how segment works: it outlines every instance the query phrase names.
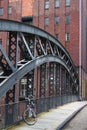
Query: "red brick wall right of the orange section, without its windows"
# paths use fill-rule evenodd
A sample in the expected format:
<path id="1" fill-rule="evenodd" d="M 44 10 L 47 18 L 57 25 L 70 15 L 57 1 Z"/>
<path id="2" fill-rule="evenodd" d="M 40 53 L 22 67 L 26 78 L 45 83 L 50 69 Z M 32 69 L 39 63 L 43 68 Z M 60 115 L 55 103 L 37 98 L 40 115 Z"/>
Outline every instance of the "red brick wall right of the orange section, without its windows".
<path id="1" fill-rule="evenodd" d="M 71 0 L 69 7 L 65 6 L 65 0 L 60 0 L 60 7 L 54 8 L 53 0 L 49 0 L 49 9 L 44 9 L 45 0 L 35 0 L 33 24 L 50 34 L 58 34 L 58 40 L 68 50 L 75 65 L 79 64 L 79 1 Z M 65 16 L 70 15 L 70 24 L 65 24 Z M 59 25 L 55 25 L 54 17 L 59 16 Z M 49 26 L 44 26 L 45 17 L 49 18 Z M 65 33 L 70 33 L 70 42 L 65 42 Z"/>

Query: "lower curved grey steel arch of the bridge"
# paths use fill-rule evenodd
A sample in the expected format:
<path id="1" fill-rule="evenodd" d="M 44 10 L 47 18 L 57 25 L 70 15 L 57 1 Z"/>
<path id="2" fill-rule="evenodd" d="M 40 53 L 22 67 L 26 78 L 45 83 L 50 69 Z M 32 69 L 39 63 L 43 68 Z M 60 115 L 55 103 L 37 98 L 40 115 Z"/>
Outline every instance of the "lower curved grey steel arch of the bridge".
<path id="1" fill-rule="evenodd" d="M 10 75 L 5 81 L 3 81 L 0 84 L 0 89 L 1 89 L 0 97 L 3 96 L 3 94 L 6 93 L 10 89 L 11 86 L 16 84 L 17 80 L 20 80 L 29 71 L 31 71 L 32 69 L 34 69 L 37 66 L 40 66 L 41 64 L 43 64 L 45 62 L 57 62 L 57 63 L 61 64 L 62 66 L 64 66 L 70 74 L 70 71 L 69 71 L 68 67 L 66 66 L 66 64 L 63 61 L 61 61 L 58 57 L 42 56 L 42 57 L 36 58 L 35 60 L 29 61 L 25 65 L 21 66 L 15 73 Z M 71 77 L 72 77 L 72 75 L 71 75 Z"/>

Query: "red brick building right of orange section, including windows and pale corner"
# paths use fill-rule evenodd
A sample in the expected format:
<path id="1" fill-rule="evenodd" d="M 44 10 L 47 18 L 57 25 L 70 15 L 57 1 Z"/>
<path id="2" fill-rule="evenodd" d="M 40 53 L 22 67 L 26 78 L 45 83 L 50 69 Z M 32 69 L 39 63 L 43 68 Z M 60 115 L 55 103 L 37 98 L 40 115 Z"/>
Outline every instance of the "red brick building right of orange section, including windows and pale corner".
<path id="1" fill-rule="evenodd" d="M 83 98 L 87 97 L 86 5 L 86 0 L 35 0 L 33 7 L 33 24 L 54 35 L 79 68 Z"/>

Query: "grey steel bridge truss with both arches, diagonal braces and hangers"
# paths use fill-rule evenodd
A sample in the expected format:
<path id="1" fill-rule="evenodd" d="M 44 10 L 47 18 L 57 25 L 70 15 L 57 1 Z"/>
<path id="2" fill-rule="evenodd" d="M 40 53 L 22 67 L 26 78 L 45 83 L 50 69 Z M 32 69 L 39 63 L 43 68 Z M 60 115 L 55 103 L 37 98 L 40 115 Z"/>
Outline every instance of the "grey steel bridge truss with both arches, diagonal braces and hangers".
<path id="1" fill-rule="evenodd" d="M 60 94 L 60 88 L 57 87 L 60 84 L 62 94 L 70 92 L 68 92 L 70 84 L 78 91 L 78 75 L 73 61 L 69 53 L 56 38 L 34 26 L 3 19 L 0 19 L 0 31 L 9 32 L 10 39 L 10 55 L 7 56 L 0 45 L 0 66 L 3 68 L 3 72 L 5 72 L 6 76 L 2 80 L 4 73 L 1 73 L 0 75 L 0 97 L 8 92 L 11 86 L 14 86 L 18 80 L 37 66 L 41 66 L 40 71 L 42 78 L 40 79 L 40 97 L 45 96 L 45 75 L 47 75 L 47 66 L 45 63 L 49 63 L 50 96 L 55 93 L 55 79 L 55 91 L 57 90 L 55 94 Z M 18 53 L 19 50 L 20 54 Z M 3 59 L 5 59 L 5 64 Z M 8 68 L 10 69 L 9 74 L 7 73 Z M 60 76 L 63 78 L 62 83 L 59 82 L 61 81 Z M 67 84 L 66 88 L 64 88 L 64 82 Z M 28 81 L 28 84 L 29 83 L 30 82 Z M 28 93 L 30 91 L 32 91 L 32 89 L 28 89 Z"/>

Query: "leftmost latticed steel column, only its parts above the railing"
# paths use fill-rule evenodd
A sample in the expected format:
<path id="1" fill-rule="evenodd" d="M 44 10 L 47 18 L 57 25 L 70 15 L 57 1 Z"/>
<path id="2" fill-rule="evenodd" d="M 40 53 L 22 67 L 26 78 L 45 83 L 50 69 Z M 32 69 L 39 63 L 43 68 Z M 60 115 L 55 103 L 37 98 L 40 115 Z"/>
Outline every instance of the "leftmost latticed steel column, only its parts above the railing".
<path id="1" fill-rule="evenodd" d="M 17 32 L 9 32 L 9 51 L 8 56 L 13 66 L 17 68 L 17 58 L 18 58 L 18 40 Z M 6 103 L 15 101 L 15 85 L 13 89 L 9 90 L 6 94 Z"/>

